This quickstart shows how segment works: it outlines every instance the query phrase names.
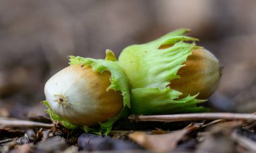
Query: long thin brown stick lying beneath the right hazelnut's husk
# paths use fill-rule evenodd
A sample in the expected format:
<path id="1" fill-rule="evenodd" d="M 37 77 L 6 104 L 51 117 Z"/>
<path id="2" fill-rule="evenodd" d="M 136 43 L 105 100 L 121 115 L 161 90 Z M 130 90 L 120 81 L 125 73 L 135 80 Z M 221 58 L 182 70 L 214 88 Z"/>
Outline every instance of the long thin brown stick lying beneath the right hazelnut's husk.
<path id="1" fill-rule="evenodd" d="M 249 113 L 185 113 L 174 115 L 131 115 L 131 121 L 195 121 L 195 120 L 214 120 L 214 119 L 227 119 L 227 120 L 247 120 L 256 121 L 256 115 Z"/>

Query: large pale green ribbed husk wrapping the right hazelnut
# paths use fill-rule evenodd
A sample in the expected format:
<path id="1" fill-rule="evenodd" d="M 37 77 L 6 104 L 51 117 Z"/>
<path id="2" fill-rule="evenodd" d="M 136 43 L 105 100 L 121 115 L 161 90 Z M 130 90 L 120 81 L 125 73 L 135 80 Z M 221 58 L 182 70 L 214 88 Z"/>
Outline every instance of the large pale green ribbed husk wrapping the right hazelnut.
<path id="1" fill-rule="evenodd" d="M 192 51 L 200 48 L 196 38 L 183 36 L 189 32 L 180 29 L 170 32 L 146 44 L 128 46 L 119 56 L 119 64 L 125 70 L 131 86 L 131 112 L 151 115 L 206 111 L 197 107 L 205 100 L 188 95 L 179 99 L 183 93 L 170 89 L 168 85 L 179 78 L 178 70 Z M 171 46 L 160 48 L 161 46 Z"/>

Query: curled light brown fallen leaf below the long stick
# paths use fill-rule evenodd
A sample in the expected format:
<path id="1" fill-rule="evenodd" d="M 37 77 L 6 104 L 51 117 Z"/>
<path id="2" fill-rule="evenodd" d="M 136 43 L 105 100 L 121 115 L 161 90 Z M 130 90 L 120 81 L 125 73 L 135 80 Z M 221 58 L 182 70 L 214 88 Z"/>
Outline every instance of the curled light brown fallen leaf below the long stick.
<path id="1" fill-rule="evenodd" d="M 183 130 L 177 130 L 170 134 L 146 134 L 145 132 L 133 132 L 129 138 L 147 150 L 154 152 L 169 152 L 176 148 L 178 142 L 189 132 L 197 130 L 201 123 L 192 123 Z"/>

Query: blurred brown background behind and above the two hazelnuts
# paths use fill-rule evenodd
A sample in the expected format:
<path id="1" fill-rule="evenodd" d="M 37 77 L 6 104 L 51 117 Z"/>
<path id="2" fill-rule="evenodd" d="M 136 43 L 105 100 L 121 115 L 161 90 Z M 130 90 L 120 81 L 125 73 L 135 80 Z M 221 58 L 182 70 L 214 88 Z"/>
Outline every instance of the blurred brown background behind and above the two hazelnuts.
<path id="1" fill-rule="evenodd" d="M 177 28 L 224 66 L 209 105 L 217 111 L 256 110 L 256 1 L 61 0 L 0 2 L 0 115 L 44 115 L 44 83 L 67 56 L 119 56 L 130 44 Z"/>

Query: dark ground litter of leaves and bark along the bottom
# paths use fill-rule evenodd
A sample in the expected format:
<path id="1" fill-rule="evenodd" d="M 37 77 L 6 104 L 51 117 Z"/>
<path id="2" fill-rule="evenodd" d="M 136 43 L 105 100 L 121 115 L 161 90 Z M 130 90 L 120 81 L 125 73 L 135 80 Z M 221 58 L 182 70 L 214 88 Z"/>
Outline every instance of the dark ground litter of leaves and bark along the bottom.
<path id="1" fill-rule="evenodd" d="M 40 123 L 44 117 L 35 118 Z M 109 136 L 97 136 L 67 130 L 59 122 L 54 122 L 53 127 L 5 127 L 0 129 L 0 152 L 256 151 L 256 123 L 250 119 L 170 123 L 124 119 L 113 129 Z"/>

